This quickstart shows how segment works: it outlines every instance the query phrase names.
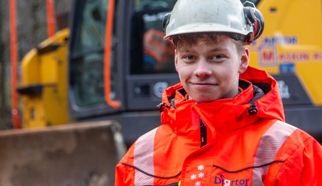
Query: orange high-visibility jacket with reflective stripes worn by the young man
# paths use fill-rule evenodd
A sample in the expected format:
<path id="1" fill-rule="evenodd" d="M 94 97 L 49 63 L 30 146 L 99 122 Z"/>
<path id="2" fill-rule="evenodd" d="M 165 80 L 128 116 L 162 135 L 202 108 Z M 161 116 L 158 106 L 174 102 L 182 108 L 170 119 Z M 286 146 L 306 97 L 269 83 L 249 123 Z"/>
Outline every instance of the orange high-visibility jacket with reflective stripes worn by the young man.
<path id="1" fill-rule="evenodd" d="M 241 93 L 196 103 L 182 85 L 163 93 L 162 125 L 116 167 L 116 186 L 322 185 L 322 147 L 284 123 L 277 82 L 248 67 Z"/>

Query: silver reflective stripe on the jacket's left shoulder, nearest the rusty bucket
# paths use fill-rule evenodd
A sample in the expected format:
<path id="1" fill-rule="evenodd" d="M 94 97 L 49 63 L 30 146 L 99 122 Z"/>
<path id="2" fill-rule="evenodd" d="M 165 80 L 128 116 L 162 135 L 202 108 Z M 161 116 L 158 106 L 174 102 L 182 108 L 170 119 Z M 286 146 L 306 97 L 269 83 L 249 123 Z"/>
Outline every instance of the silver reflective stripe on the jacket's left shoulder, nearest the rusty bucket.
<path id="1" fill-rule="evenodd" d="M 147 132 L 139 139 L 134 146 L 134 163 L 133 165 L 142 171 L 154 175 L 154 137 L 156 129 Z M 154 177 L 135 170 L 134 185 L 153 185 Z"/>

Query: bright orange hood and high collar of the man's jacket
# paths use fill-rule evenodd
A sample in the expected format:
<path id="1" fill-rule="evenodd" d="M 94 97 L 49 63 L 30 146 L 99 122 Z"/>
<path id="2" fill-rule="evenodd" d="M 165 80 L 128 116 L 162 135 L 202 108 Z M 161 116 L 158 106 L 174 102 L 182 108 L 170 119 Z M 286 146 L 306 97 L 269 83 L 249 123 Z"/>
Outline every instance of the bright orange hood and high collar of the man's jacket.
<path id="1" fill-rule="evenodd" d="M 250 125 L 260 118 L 285 121 L 278 84 L 272 76 L 249 66 L 239 78 L 242 92 L 234 98 L 209 103 L 187 99 L 181 83 L 165 89 L 159 105 L 162 124 L 169 124 L 176 133 L 197 133 L 201 119 L 214 137 Z"/>

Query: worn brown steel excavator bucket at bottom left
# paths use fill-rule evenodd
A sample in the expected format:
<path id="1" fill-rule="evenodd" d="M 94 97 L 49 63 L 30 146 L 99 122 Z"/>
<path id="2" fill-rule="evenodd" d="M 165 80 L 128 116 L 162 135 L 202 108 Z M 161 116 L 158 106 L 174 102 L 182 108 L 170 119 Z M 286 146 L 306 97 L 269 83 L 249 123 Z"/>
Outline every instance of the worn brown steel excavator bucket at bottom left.
<path id="1" fill-rule="evenodd" d="M 111 120 L 0 131 L 0 185 L 114 185 L 126 150 Z"/>

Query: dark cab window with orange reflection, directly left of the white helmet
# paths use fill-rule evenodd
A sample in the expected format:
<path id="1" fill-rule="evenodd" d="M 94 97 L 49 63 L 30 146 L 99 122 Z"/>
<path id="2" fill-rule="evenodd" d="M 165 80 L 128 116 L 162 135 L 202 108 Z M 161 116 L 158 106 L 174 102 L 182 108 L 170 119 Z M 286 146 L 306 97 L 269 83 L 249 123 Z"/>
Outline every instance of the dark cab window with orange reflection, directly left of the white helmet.
<path id="1" fill-rule="evenodd" d="M 131 29 L 131 74 L 175 73 L 175 46 L 164 41 L 163 18 L 176 0 L 135 0 Z"/>

